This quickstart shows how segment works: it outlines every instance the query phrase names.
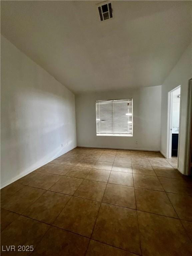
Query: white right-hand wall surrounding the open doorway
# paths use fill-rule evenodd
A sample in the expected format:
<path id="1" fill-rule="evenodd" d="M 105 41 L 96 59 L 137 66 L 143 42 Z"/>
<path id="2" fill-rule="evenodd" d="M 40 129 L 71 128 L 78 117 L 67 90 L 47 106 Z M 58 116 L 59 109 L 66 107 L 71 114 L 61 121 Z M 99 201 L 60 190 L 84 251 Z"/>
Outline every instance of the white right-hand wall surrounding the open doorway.
<path id="1" fill-rule="evenodd" d="M 168 111 L 168 92 L 175 87 L 181 85 L 180 98 L 180 132 L 179 132 L 179 165 L 178 169 L 181 173 L 185 166 L 185 137 L 186 137 L 186 121 L 187 121 L 187 99 L 188 99 L 188 80 L 192 77 L 191 63 L 191 45 L 185 50 L 180 60 L 177 62 L 169 76 L 162 84 L 162 104 L 161 104 L 161 151 L 166 156 L 167 152 L 167 111 Z"/>

